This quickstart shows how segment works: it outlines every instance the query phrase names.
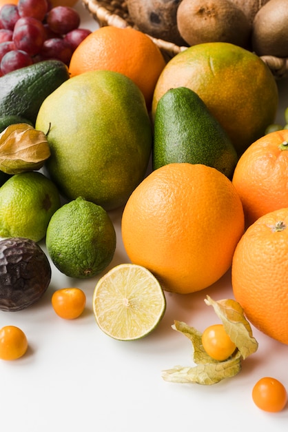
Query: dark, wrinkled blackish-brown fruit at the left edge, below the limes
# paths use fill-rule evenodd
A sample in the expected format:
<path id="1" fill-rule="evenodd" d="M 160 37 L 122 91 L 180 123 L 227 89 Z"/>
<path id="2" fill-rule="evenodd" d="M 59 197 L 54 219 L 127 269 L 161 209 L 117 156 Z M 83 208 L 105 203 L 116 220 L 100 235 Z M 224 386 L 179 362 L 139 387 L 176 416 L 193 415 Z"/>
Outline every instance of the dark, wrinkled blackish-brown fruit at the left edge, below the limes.
<path id="1" fill-rule="evenodd" d="M 0 310 L 21 311 L 39 300 L 50 284 L 51 267 L 30 239 L 0 241 Z"/>

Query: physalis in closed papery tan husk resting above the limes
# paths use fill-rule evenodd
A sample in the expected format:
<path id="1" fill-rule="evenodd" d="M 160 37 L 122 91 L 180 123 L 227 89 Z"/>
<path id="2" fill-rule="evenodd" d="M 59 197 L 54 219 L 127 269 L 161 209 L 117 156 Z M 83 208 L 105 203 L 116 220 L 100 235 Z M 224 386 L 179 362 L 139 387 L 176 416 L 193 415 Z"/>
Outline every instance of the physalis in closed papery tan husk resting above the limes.
<path id="1" fill-rule="evenodd" d="M 50 157 L 46 135 L 29 124 L 8 126 L 0 134 L 0 170 L 7 174 L 39 170 Z"/>

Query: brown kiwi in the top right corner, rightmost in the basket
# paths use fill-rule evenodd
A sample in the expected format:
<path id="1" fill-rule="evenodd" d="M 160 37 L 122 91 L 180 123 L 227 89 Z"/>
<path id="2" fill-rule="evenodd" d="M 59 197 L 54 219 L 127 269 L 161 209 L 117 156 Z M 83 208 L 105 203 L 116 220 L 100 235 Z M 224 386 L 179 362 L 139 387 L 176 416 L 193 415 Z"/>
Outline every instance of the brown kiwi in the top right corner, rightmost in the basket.
<path id="1" fill-rule="evenodd" d="M 252 48 L 257 55 L 288 57 L 288 2 L 269 0 L 253 23 Z"/>

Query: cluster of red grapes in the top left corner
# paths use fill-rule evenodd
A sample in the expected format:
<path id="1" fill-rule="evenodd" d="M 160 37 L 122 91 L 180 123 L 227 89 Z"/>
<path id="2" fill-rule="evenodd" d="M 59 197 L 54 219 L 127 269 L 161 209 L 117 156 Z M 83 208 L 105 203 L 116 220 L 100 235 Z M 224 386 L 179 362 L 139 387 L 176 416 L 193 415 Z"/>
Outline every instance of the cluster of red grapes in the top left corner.
<path id="1" fill-rule="evenodd" d="M 79 28 L 79 13 L 50 0 L 19 0 L 0 9 L 0 76 L 38 61 L 69 66 L 72 53 L 91 31 Z"/>

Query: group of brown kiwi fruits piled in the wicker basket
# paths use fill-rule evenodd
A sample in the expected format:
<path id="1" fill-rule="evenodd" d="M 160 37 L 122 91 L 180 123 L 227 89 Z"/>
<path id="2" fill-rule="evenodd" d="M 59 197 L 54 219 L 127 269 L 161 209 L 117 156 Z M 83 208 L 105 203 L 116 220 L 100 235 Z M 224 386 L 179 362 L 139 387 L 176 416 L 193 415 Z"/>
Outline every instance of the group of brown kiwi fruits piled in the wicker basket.
<path id="1" fill-rule="evenodd" d="M 288 57 L 285 0 L 127 0 L 139 30 L 180 46 L 229 42 Z"/>

